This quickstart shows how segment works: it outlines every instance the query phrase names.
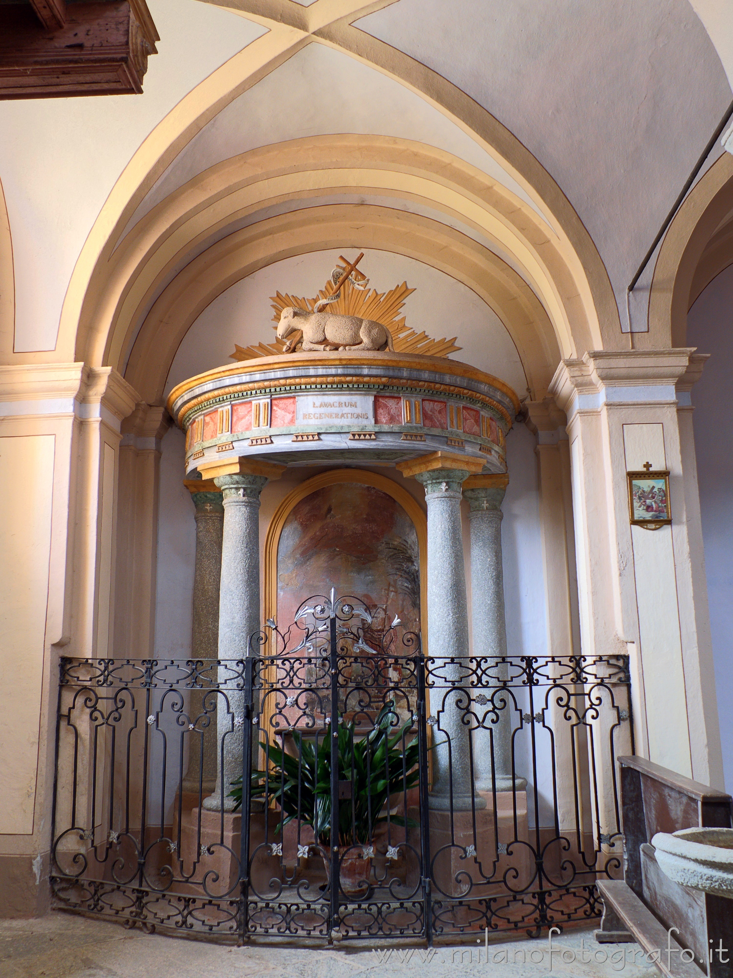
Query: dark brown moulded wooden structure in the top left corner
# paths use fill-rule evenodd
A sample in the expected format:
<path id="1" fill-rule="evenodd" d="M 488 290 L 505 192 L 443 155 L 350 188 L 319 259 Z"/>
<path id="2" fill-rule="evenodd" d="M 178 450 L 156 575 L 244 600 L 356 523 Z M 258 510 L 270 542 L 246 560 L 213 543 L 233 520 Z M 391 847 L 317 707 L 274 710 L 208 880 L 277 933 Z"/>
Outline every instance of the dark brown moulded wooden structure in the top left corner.
<path id="1" fill-rule="evenodd" d="M 0 99 L 143 91 L 159 40 L 145 0 L 69 4 L 64 24 L 49 29 L 34 13 L 42 3 L 59 0 L 0 4 Z"/>

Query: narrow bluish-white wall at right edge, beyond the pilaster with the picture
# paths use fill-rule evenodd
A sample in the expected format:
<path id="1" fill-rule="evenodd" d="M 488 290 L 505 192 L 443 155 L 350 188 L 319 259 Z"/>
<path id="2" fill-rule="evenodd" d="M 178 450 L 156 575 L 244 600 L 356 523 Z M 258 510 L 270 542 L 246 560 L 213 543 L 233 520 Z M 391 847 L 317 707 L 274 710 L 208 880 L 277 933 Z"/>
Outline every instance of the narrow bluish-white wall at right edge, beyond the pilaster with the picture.
<path id="1" fill-rule="evenodd" d="M 711 353 L 693 387 L 693 424 L 711 612 L 717 709 L 727 790 L 733 788 L 733 266 L 714 279 L 687 317 L 687 345 Z"/>

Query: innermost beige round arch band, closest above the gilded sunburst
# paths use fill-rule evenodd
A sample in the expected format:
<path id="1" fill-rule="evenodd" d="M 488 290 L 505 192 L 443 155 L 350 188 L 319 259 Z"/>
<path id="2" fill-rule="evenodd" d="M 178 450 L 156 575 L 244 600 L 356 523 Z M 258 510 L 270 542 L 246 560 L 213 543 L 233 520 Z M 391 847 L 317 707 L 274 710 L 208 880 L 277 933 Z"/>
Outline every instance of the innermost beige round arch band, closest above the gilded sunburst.
<path id="1" fill-rule="evenodd" d="M 545 389 L 559 348 L 539 299 L 508 265 L 439 222 L 383 206 L 329 204 L 248 226 L 196 257 L 164 289 L 132 346 L 125 377 L 162 398 L 169 365 L 195 319 L 221 292 L 284 258 L 333 247 L 366 247 L 415 258 L 473 289 L 506 326 L 528 385 Z M 447 326 L 447 329 L 449 327 Z M 450 329 L 449 329 L 450 332 Z"/>

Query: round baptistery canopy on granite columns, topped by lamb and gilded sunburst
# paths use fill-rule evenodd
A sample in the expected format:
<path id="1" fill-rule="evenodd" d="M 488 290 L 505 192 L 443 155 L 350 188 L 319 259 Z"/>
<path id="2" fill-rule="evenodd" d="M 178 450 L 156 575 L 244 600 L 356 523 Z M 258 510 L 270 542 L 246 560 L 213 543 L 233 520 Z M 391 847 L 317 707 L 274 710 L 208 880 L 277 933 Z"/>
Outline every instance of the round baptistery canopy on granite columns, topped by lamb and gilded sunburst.
<path id="1" fill-rule="evenodd" d="M 508 481 L 505 439 L 519 400 L 502 381 L 449 360 L 446 354 L 459 349 L 454 340 L 408 329 L 399 314 L 412 289 L 369 290 L 356 268 L 361 258 L 342 257 L 313 299 L 279 292 L 273 299 L 275 343 L 237 346 L 234 366 L 190 378 L 168 398 L 171 416 L 186 431 L 188 478 L 200 474 L 223 497 L 219 658 L 245 657 L 249 637 L 260 629 L 258 510 L 267 480 L 279 478 L 285 467 L 386 466 L 424 487 L 422 639 L 445 660 L 446 676 L 458 682 L 469 661 L 464 490 L 471 510 L 474 652 L 499 662 L 506 652 L 500 505 Z M 326 584 L 339 592 L 339 581 Z M 430 804 L 436 811 L 484 808 L 485 799 L 472 788 L 474 776 L 491 789 L 483 734 L 471 763 L 461 715 L 458 706 L 446 704 L 445 749 L 437 742 L 432 757 Z M 219 720 L 229 722 L 221 715 Z M 228 785 L 240 773 L 242 751 L 241 732 L 233 733 L 207 808 L 233 805 Z M 511 770 L 507 736 L 494 732 L 497 790 L 520 780 Z"/>

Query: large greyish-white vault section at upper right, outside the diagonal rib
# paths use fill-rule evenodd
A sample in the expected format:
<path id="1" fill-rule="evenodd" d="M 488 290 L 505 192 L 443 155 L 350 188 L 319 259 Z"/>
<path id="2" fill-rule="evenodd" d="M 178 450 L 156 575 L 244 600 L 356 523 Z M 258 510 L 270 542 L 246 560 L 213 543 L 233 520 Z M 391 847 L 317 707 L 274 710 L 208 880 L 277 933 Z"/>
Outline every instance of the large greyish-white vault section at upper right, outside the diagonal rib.
<path id="1" fill-rule="evenodd" d="M 625 317 L 625 287 L 730 103 L 687 0 L 463 0 L 460 16 L 445 0 L 400 0 L 355 26 L 448 78 L 537 156 Z"/>

